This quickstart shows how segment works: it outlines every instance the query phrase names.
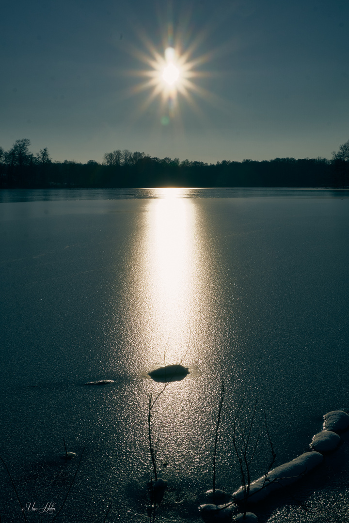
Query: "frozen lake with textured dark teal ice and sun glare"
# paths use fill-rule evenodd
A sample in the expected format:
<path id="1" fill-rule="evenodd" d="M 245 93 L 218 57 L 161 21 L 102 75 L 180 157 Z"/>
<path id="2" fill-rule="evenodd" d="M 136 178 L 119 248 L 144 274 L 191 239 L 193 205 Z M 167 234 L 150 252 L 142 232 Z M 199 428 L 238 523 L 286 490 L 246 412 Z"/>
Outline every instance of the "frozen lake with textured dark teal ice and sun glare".
<path id="1" fill-rule="evenodd" d="M 212 488 L 241 484 L 234 413 L 255 401 L 253 479 L 309 450 L 328 411 L 349 407 L 349 191 L 1 191 L 0 455 L 21 502 L 56 521 L 150 521 L 148 372 L 189 374 L 154 406 L 155 521 L 199 522 Z M 86 386 L 96 380 L 105 386 Z M 349 520 L 349 437 L 320 468 L 254 509 L 262 523 Z M 164 465 L 163 465 L 164 464 Z M 2 521 L 20 507 L 3 465 Z M 307 511 L 295 501 L 305 503 Z M 51 521 L 30 511 L 28 521 Z"/>

